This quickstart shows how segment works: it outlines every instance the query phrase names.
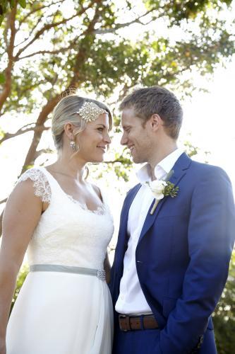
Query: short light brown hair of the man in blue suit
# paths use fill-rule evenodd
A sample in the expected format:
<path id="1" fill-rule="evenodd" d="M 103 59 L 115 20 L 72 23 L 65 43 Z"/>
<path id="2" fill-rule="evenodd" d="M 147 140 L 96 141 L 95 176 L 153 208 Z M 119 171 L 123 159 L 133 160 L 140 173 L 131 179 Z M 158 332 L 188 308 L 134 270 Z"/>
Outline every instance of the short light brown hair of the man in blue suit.
<path id="1" fill-rule="evenodd" d="M 167 134 L 173 139 L 179 137 L 183 110 L 178 98 L 171 91 L 159 86 L 135 89 L 121 102 L 119 109 L 133 108 L 138 118 L 145 122 L 158 114 L 163 122 Z"/>

